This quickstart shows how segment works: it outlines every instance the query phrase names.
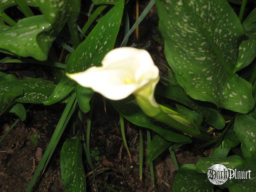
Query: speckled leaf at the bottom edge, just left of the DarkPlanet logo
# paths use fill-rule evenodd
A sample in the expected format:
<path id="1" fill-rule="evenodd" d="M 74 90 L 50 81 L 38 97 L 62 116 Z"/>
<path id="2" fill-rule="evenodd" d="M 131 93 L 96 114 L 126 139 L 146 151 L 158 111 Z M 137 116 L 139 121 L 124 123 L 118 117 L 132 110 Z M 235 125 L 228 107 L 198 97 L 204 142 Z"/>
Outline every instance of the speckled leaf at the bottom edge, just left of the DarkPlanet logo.
<path id="1" fill-rule="evenodd" d="M 173 192 L 213 192 L 213 184 L 205 174 L 198 173 L 194 166 L 185 164 L 180 167 L 175 175 Z"/>

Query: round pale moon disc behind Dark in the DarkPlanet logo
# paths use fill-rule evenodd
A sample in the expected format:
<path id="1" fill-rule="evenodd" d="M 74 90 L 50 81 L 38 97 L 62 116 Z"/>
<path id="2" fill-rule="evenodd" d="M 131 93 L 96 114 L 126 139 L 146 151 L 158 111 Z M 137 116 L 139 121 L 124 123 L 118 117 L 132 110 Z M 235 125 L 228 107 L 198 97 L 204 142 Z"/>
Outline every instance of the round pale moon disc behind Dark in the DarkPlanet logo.
<path id="1" fill-rule="evenodd" d="M 222 185 L 229 178 L 227 167 L 222 164 L 214 164 L 208 168 L 207 177 L 215 185 Z"/>

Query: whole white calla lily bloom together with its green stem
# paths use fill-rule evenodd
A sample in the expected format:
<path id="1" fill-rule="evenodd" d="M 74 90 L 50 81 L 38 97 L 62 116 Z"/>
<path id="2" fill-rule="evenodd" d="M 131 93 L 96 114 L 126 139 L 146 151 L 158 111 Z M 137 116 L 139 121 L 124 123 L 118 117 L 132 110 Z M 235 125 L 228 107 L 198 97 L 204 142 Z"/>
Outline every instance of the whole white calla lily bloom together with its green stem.
<path id="1" fill-rule="evenodd" d="M 151 118 L 191 137 L 208 138 L 179 113 L 156 102 L 154 90 L 160 79 L 159 70 L 144 49 L 113 49 L 102 60 L 101 67 L 66 75 L 82 87 L 90 87 L 111 100 L 125 99 L 133 94 L 142 111 Z"/>

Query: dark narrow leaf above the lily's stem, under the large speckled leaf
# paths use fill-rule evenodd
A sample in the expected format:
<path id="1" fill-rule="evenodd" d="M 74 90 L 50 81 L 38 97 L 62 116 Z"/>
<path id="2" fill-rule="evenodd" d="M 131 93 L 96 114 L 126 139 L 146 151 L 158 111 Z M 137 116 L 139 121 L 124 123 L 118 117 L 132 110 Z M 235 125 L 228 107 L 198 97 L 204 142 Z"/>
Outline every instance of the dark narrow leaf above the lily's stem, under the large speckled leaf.
<path id="1" fill-rule="evenodd" d="M 197 102 L 189 97 L 182 87 L 175 85 L 160 86 L 156 89 L 156 94 L 165 96 L 169 99 L 175 100 L 195 110 L 206 119 L 209 125 L 217 129 L 222 129 L 225 126 L 225 120 L 220 113 L 214 108 L 206 107 L 205 103 Z"/>

